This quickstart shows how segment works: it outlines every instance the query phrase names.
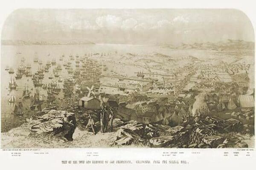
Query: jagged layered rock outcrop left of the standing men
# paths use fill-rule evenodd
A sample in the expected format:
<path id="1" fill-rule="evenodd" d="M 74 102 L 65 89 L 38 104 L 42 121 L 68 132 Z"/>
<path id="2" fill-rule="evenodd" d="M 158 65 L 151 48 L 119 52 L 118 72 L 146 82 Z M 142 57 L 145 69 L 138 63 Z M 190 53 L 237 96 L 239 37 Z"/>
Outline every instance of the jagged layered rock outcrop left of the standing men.
<path id="1" fill-rule="evenodd" d="M 38 119 L 29 122 L 29 129 L 34 133 L 51 133 L 55 136 L 63 136 L 67 140 L 73 140 L 72 136 L 76 129 L 76 117 L 74 113 L 67 113 L 67 122 L 64 123 L 66 111 L 51 110 Z"/>

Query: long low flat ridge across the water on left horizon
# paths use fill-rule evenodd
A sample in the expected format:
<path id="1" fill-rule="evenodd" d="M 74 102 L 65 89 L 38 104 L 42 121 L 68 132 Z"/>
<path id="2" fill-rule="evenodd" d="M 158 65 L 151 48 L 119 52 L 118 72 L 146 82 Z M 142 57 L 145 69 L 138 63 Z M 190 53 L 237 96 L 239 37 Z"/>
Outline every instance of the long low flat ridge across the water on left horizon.
<path id="1" fill-rule="evenodd" d="M 47 41 L 24 41 L 24 40 L 1 40 L 1 45 L 82 45 L 95 44 L 87 40 L 47 40 Z"/>

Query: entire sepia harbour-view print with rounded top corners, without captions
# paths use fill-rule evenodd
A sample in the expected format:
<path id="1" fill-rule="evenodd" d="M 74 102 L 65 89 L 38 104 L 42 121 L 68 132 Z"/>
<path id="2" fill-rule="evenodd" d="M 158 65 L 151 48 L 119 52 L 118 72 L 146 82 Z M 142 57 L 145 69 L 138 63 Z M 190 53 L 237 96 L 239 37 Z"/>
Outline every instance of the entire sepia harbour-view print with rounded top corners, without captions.
<path id="1" fill-rule="evenodd" d="M 1 148 L 254 148 L 254 32 L 235 9 L 18 9 Z"/>

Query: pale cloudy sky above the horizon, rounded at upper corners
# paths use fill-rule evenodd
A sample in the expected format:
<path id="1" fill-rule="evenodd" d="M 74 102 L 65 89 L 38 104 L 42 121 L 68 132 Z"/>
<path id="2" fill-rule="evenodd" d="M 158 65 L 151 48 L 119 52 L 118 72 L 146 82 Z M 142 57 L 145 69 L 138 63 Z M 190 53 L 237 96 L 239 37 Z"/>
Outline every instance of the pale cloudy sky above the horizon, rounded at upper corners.
<path id="1" fill-rule="evenodd" d="M 254 42 L 248 17 L 235 9 L 18 9 L 1 40 L 88 40 L 179 44 L 227 39 Z"/>

